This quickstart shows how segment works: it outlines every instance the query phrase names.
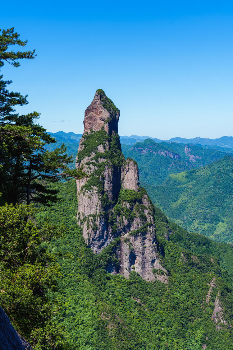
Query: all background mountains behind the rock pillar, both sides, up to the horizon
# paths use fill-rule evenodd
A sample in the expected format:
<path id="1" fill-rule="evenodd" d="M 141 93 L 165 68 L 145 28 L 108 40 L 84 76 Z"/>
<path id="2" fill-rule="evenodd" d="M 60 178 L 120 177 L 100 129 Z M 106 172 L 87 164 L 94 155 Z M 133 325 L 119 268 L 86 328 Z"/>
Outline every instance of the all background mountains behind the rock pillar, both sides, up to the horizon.
<path id="1" fill-rule="evenodd" d="M 62 131 L 51 135 L 57 143 L 48 149 L 64 143 L 68 155 L 73 155 L 71 167 L 74 168 L 82 135 Z M 180 142 L 174 142 L 176 139 Z M 141 185 L 170 219 L 189 231 L 233 242 L 231 139 L 196 138 L 191 141 L 198 143 L 191 144 L 181 143 L 189 139 L 173 138 L 159 143 L 158 139 L 132 135 L 121 137 L 121 147 L 125 158 L 137 161 Z M 220 146 L 223 144 L 224 147 Z"/>

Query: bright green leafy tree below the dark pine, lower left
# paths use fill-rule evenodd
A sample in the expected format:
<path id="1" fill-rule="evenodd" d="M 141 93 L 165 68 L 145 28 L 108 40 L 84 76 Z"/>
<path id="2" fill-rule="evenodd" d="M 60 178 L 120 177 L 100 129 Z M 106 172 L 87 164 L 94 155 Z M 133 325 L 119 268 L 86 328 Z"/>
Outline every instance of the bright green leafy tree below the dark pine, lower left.
<path id="1" fill-rule="evenodd" d="M 35 212 L 25 204 L 0 207 L 0 304 L 35 349 L 64 349 L 64 330 L 52 321 L 59 304 L 47 296 L 57 288 L 60 266 L 44 243 L 65 229 L 48 219 L 40 227 L 24 220 Z"/>

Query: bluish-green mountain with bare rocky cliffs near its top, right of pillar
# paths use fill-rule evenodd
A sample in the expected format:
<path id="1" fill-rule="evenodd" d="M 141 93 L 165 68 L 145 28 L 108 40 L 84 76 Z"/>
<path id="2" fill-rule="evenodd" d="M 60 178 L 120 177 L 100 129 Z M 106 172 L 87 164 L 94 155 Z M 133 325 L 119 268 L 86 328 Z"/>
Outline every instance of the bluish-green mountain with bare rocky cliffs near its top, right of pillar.
<path id="1" fill-rule="evenodd" d="M 159 144 L 151 139 L 137 142 L 134 146 L 122 145 L 122 152 L 137 161 L 140 181 L 150 185 L 159 185 L 169 174 L 199 168 L 226 155 L 196 145 Z"/>

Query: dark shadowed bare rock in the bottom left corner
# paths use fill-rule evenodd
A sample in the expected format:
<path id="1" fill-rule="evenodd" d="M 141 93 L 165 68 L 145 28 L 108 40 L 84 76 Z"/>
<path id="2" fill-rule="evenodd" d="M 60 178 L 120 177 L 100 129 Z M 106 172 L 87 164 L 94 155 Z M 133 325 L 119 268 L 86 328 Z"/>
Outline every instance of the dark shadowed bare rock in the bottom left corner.
<path id="1" fill-rule="evenodd" d="M 32 350 L 31 345 L 21 337 L 9 318 L 0 307 L 0 349 L 2 350 Z"/>

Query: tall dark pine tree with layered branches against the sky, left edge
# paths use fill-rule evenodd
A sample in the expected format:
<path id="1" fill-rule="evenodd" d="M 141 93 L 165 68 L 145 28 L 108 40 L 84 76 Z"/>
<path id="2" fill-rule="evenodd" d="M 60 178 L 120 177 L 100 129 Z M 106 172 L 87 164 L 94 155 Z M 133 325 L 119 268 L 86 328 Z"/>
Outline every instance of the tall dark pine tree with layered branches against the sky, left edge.
<path id="1" fill-rule="evenodd" d="M 5 62 L 19 67 L 19 59 L 35 58 L 33 51 L 8 51 L 12 45 L 24 47 L 14 27 L 0 31 L 0 69 Z M 50 190 L 48 182 L 56 182 L 64 177 L 83 177 L 82 169 L 70 170 L 71 157 L 62 145 L 49 152 L 45 145 L 55 143 L 41 125 L 36 124 L 38 112 L 27 115 L 15 113 L 15 106 L 27 104 L 27 95 L 9 92 L 7 85 L 12 80 L 0 76 L 0 188 L 3 200 L 16 204 L 18 201 L 47 203 L 56 200 L 56 191 Z"/>

